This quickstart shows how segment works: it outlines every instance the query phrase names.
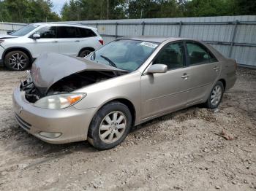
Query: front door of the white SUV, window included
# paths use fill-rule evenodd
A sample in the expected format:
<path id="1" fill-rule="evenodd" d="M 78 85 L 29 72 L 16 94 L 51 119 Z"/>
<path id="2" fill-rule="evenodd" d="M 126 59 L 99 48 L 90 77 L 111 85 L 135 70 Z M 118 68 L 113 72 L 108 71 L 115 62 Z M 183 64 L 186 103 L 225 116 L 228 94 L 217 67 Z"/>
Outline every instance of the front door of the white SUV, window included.
<path id="1" fill-rule="evenodd" d="M 59 53 L 59 42 L 56 38 L 56 26 L 45 26 L 39 28 L 35 34 L 40 35 L 40 39 L 33 39 L 31 51 L 34 58 L 37 58 L 43 52 Z"/>

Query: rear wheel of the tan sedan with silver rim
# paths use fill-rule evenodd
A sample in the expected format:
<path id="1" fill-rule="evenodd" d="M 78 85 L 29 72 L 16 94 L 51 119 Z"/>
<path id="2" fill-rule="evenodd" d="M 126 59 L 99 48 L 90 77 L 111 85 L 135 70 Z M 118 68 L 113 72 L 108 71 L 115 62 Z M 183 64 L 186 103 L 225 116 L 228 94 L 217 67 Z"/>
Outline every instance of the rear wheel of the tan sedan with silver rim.
<path id="1" fill-rule="evenodd" d="M 211 93 L 206 101 L 206 108 L 216 109 L 222 101 L 224 93 L 224 86 L 222 82 L 218 81 L 211 90 Z"/>

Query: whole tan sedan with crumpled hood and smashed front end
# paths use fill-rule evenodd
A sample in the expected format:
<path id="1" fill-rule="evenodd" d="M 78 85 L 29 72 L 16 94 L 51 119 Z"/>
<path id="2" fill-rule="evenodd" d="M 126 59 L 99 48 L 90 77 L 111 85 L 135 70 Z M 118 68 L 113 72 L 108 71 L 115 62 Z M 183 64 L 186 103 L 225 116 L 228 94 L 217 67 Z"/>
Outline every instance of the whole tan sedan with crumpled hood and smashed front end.
<path id="1" fill-rule="evenodd" d="M 195 104 L 219 106 L 236 61 L 192 39 L 116 39 L 86 58 L 45 53 L 13 93 L 20 127 L 43 141 L 116 147 L 132 126 Z"/>

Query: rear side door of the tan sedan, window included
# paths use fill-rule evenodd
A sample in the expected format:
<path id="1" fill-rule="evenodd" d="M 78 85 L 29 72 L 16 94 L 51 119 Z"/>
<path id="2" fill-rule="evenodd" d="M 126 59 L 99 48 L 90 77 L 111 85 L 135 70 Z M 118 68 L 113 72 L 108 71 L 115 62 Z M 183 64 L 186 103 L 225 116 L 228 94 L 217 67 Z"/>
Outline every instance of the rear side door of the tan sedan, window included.
<path id="1" fill-rule="evenodd" d="M 186 49 L 189 63 L 189 106 L 200 103 L 210 93 L 219 76 L 220 66 L 217 58 L 203 44 L 187 41 Z"/>

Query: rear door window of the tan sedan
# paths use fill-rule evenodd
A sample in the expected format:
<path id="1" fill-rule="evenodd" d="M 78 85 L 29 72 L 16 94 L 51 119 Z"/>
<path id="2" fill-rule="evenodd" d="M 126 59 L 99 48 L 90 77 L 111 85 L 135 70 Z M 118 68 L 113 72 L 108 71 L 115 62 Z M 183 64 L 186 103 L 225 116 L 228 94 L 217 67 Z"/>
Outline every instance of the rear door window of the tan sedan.
<path id="1" fill-rule="evenodd" d="M 186 44 L 191 65 L 212 63 L 217 61 L 217 59 L 214 58 L 206 47 L 203 47 L 203 45 L 196 42 L 187 42 Z"/>

